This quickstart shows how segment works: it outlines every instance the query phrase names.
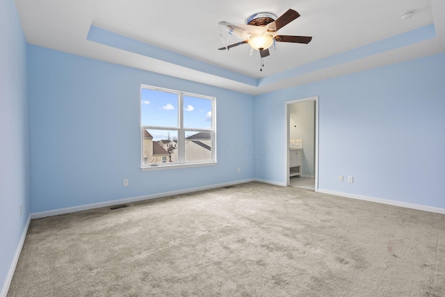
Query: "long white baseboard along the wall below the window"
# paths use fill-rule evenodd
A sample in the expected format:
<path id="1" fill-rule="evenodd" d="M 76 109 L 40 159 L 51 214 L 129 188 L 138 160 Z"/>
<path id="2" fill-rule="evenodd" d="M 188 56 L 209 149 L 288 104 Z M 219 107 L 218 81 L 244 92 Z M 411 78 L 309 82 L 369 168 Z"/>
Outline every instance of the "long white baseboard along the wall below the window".
<path id="1" fill-rule="evenodd" d="M 70 213 L 76 212 L 76 211 L 83 211 L 83 210 L 95 209 L 95 208 L 100 208 L 100 207 L 109 207 L 111 205 L 116 205 L 116 204 L 131 203 L 131 202 L 137 202 L 137 201 L 142 201 L 142 200 L 167 197 L 167 196 L 172 196 L 172 195 L 180 195 L 180 194 L 191 193 L 191 192 L 196 192 L 196 191 L 209 190 L 211 188 L 220 188 L 222 186 L 232 186 L 233 184 L 244 184 L 246 182 L 254 182 L 254 179 L 243 179 L 243 180 L 239 180 L 236 182 L 227 182 L 227 183 L 223 183 L 223 184 L 212 184 L 210 186 L 199 186 L 197 188 L 186 188 L 184 190 L 179 190 L 179 191 L 156 193 L 156 194 L 143 195 L 143 196 L 132 197 L 132 198 L 110 200 L 110 201 L 106 201 L 106 202 L 84 204 L 84 205 L 79 205 L 76 207 L 67 207 L 67 208 L 63 208 L 63 209 L 54 209 L 54 210 L 49 210 L 49 211 L 35 212 L 35 213 L 31 214 L 31 219 L 44 218 L 45 216 L 58 216 L 59 214 L 70 214 Z"/>

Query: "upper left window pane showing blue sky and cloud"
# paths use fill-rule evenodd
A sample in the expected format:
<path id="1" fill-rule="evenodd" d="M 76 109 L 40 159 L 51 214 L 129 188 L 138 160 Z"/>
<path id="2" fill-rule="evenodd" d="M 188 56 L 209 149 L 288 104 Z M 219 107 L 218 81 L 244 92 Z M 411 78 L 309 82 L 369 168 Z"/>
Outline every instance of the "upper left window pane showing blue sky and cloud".
<path id="1" fill-rule="evenodd" d="M 143 126 L 178 127 L 178 95 L 142 88 L 140 122 Z"/>

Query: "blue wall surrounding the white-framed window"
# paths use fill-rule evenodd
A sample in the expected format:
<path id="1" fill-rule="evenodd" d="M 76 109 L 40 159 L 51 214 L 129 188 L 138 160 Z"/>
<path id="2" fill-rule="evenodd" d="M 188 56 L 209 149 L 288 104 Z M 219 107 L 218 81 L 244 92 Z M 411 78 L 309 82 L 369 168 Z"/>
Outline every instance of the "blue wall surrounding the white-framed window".
<path id="1" fill-rule="evenodd" d="M 252 96 L 33 45 L 28 59 L 31 212 L 253 178 Z M 216 97 L 217 166 L 141 172 L 141 83 Z"/>

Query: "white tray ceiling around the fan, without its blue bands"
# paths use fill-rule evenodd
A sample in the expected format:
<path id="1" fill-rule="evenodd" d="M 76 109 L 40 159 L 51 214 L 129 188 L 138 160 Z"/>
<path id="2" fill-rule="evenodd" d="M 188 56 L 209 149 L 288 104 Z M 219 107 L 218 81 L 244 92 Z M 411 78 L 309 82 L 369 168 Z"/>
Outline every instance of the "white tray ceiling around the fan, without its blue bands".
<path id="1" fill-rule="evenodd" d="M 137 67 L 191 81 L 257 95 L 319 79 L 445 51 L 444 0 L 15 0 L 26 41 L 80 56 Z M 300 17 L 284 26 L 282 35 L 313 36 L 308 45 L 277 42 L 259 71 L 259 53 L 241 45 L 219 51 L 218 22 L 245 24 L 250 15 L 277 15 L 292 8 Z M 401 20 L 408 10 L 415 14 Z M 323 69 L 299 67 L 413 29 L 434 24 L 436 37 L 380 51 Z M 173 63 L 150 54 L 136 54 L 88 40 L 90 26 L 168 49 L 209 64 L 211 71 Z M 238 40 L 233 40 L 234 42 Z M 178 65 L 179 64 L 179 65 Z M 221 68 L 225 71 L 221 70 Z M 221 71 L 219 71 L 221 70 Z M 220 74 L 224 72 L 225 74 Z M 233 75 L 232 75 L 233 74 Z M 237 75 L 252 78 L 245 83 Z M 270 79 L 268 83 L 261 83 Z"/>

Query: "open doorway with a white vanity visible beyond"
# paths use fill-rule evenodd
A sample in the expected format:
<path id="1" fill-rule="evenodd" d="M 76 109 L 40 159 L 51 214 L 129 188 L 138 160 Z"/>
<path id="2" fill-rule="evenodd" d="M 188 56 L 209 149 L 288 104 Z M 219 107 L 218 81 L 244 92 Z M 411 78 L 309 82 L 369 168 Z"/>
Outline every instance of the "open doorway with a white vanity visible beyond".
<path id="1" fill-rule="evenodd" d="M 318 96 L 286 102 L 286 186 L 318 191 Z"/>

